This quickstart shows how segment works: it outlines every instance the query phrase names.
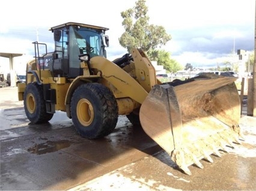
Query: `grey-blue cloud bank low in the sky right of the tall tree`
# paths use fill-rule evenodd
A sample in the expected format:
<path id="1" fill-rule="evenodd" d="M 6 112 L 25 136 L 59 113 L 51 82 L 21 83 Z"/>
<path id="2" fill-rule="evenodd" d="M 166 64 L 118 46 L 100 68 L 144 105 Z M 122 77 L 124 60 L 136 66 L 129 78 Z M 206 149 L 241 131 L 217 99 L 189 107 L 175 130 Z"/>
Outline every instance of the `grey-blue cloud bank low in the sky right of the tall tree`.
<path id="1" fill-rule="evenodd" d="M 201 26 L 186 31 L 173 29 L 170 31 L 172 40 L 165 49 L 171 51 L 172 57 L 183 65 L 191 62 L 207 66 L 222 64 L 237 49 L 254 50 L 254 26 L 237 25 L 236 28 L 231 25 Z M 201 54 L 198 55 L 198 52 Z"/>

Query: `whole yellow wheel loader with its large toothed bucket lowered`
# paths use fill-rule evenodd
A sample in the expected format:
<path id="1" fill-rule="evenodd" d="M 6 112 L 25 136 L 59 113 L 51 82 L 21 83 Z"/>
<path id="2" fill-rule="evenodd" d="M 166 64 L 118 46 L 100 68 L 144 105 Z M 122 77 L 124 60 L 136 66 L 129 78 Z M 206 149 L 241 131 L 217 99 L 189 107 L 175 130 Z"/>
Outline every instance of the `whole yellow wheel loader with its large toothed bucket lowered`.
<path id="1" fill-rule="evenodd" d="M 140 123 L 186 174 L 190 165 L 239 143 L 240 100 L 235 77 L 214 74 L 160 83 L 141 48 L 106 58 L 108 28 L 64 23 L 50 28 L 55 49 L 34 42 L 26 83 L 18 84 L 31 123 L 46 123 L 55 111 L 72 119 L 78 134 L 111 134 L 119 115 Z M 43 52 L 43 53 L 42 53 Z M 42 53 L 42 54 L 41 54 Z"/>

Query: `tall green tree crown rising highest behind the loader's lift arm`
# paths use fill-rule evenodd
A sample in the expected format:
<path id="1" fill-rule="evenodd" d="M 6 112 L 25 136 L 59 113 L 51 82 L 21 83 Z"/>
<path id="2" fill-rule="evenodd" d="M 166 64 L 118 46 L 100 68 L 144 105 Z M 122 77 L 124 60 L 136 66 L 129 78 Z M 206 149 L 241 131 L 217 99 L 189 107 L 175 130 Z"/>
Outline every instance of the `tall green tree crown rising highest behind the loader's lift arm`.
<path id="1" fill-rule="evenodd" d="M 135 7 L 121 12 L 125 32 L 118 40 L 128 52 L 132 48 L 142 48 L 147 53 L 171 40 L 171 35 L 166 34 L 163 26 L 149 25 L 145 2 L 146 0 L 138 0 Z"/>

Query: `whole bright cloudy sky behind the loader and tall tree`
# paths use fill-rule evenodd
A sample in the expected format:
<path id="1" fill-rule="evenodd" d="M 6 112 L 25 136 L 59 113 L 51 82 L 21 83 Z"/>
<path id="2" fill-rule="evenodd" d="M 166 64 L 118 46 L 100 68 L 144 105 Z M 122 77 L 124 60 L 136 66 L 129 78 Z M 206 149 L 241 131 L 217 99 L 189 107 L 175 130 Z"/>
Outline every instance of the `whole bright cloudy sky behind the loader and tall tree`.
<path id="1" fill-rule="evenodd" d="M 109 28 L 109 60 L 127 53 L 118 38 L 124 32 L 121 11 L 137 0 L 8 0 L 0 7 L 0 52 L 23 53 L 14 58 L 14 68 L 32 59 L 32 42 L 52 47 L 52 26 L 66 22 Z M 234 62 L 237 50 L 254 52 L 255 0 L 147 0 L 150 24 L 163 26 L 172 39 L 161 49 L 181 65 L 196 68 L 224 66 Z M 1 69 L 8 59 L 0 57 Z"/>

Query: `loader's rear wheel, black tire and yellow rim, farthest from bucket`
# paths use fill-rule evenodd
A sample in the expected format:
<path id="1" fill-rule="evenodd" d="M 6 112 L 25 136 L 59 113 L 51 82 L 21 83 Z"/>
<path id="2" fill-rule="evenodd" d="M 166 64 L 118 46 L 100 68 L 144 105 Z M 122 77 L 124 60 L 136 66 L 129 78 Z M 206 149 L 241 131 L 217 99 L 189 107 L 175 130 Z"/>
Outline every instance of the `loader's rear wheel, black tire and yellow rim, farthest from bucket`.
<path id="1" fill-rule="evenodd" d="M 46 113 L 43 98 L 43 87 L 37 83 L 29 83 L 24 92 L 24 109 L 31 123 L 46 123 L 52 119 L 52 113 Z"/>

